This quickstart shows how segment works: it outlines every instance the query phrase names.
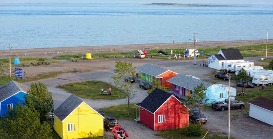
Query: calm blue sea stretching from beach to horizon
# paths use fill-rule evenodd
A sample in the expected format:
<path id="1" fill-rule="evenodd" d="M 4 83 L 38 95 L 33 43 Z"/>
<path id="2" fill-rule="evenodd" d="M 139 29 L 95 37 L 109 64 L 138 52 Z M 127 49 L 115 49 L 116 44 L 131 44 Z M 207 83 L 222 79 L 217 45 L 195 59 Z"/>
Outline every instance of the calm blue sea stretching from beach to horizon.
<path id="1" fill-rule="evenodd" d="M 272 28 L 273 5 L 0 4 L 1 50 L 273 39 Z"/>

